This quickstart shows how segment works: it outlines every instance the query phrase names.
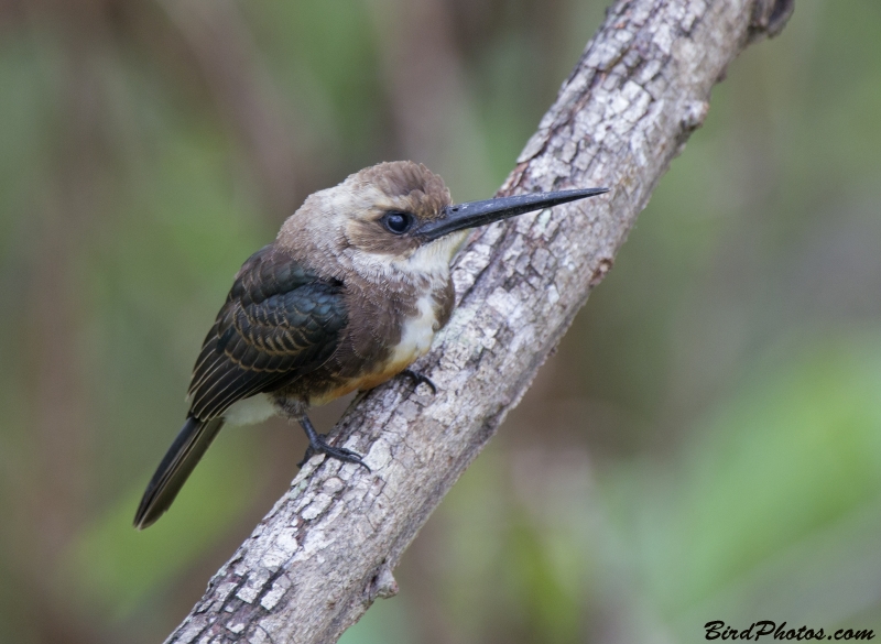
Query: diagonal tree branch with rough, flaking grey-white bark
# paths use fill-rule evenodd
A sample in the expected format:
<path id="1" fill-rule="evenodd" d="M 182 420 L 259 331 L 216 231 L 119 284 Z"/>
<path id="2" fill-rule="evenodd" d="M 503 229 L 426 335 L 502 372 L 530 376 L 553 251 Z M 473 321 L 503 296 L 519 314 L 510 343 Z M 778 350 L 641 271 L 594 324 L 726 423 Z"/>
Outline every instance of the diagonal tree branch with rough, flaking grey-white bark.
<path id="1" fill-rule="evenodd" d="M 415 369 L 340 421 L 372 472 L 314 457 L 211 579 L 174 643 L 335 642 L 378 597 L 440 499 L 523 395 L 686 139 L 713 85 L 792 0 L 621 0 L 587 45 L 500 194 L 610 186 L 479 233 L 460 303 Z"/>

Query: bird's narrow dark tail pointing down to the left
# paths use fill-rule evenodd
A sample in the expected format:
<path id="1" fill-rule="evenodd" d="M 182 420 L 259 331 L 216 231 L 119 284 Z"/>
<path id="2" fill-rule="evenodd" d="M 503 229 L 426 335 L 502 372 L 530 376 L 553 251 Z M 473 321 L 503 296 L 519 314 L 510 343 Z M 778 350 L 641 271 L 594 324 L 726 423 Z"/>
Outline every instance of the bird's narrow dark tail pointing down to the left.
<path id="1" fill-rule="evenodd" d="M 222 418 L 199 421 L 189 416 L 186 419 L 146 485 L 134 514 L 134 527 L 143 530 L 162 516 L 222 426 Z"/>

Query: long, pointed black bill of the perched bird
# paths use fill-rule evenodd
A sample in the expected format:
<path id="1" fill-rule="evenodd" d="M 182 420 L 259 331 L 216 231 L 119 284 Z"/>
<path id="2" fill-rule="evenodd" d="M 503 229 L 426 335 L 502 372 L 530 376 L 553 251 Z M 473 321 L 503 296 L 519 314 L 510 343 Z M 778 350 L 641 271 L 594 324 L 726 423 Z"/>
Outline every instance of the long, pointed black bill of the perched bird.
<path id="1" fill-rule="evenodd" d="M 413 233 L 426 241 L 444 237 L 456 230 L 477 228 L 516 217 L 533 210 L 544 210 L 561 204 L 577 201 L 595 195 L 608 193 L 609 188 L 583 188 L 577 190 L 558 190 L 556 193 L 529 193 L 513 197 L 486 199 L 485 201 L 469 201 L 444 208 L 439 219 L 426 221 Z"/>

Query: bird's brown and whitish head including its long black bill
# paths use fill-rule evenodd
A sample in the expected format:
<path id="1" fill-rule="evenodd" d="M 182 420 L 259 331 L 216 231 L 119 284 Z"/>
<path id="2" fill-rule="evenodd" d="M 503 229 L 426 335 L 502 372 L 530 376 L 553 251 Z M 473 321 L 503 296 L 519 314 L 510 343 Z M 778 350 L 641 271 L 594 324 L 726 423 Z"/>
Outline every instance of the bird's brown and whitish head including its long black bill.
<path id="1" fill-rule="evenodd" d="M 424 165 L 380 163 L 311 195 L 284 222 L 279 242 L 360 272 L 445 272 L 469 229 L 605 192 L 531 193 L 453 205 L 444 179 Z"/>

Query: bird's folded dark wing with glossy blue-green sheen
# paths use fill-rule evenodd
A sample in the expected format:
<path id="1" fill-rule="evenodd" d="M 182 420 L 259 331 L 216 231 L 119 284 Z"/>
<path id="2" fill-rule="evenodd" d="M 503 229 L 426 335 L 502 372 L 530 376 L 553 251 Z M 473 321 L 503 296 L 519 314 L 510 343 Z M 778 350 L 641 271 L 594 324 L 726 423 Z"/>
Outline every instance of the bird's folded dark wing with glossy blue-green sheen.
<path id="1" fill-rule="evenodd" d="M 272 245 L 242 265 L 205 338 L 189 384 L 192 416 L 216 418 L 324 364 L 348 319 L 342 284 Z"/>

